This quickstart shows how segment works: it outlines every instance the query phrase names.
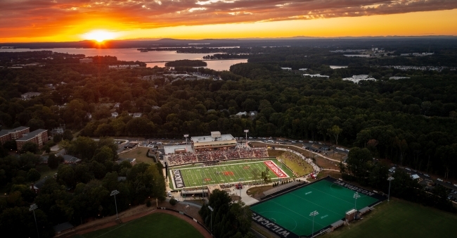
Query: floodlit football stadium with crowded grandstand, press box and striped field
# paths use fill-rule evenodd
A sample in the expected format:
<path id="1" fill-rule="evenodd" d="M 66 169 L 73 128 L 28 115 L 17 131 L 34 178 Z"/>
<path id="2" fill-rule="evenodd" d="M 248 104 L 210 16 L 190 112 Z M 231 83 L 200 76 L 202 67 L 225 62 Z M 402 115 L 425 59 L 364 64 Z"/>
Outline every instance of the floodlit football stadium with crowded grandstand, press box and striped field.
<path id="1" fill-rule="evenodd" d="M 231 134 L 211 132 L 191 137 L 191 144 L 165 146 L 165 161 L 172 189 L 202 189 L 211 184 L 260 184 L 268 172 L 272 181 L 294 177 L 290 168 L 268 156 L 265 147 L 250 148 Z M 169 168 L 168 168 L 169 166 Z"/>

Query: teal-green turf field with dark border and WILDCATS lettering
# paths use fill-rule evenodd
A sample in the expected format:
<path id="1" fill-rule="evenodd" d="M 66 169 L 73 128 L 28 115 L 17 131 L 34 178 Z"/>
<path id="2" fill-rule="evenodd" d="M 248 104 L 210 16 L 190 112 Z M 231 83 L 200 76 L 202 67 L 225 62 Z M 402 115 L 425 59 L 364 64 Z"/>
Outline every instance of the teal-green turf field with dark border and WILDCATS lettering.
<path id="1" fill-rule="evenodd" d="M 354 199 L 358 192 L 359 199 Z M 283 237 L 311 237 L 314 217 L 314 234 L 326 230 L 331 224 L 345 218 L 345 213 L 356 206 L 357 210 L 382 201 L 374 192 L 347 184 L 332 177 L 266 199 L 251 206 L 252 219 L 271 232 Z M 271 224 L 272 223 L 272 224 Z"/>

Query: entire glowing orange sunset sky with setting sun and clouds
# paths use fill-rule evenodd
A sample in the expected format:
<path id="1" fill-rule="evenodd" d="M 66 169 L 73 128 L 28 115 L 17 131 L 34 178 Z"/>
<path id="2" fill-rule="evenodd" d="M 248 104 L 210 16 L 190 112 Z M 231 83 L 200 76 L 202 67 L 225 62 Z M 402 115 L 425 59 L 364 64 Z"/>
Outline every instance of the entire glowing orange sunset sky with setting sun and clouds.
<path id="1" fill-rule="evenodd" d="M 0 42 L 457 35 L 457 0 L 1 0 Z"/>

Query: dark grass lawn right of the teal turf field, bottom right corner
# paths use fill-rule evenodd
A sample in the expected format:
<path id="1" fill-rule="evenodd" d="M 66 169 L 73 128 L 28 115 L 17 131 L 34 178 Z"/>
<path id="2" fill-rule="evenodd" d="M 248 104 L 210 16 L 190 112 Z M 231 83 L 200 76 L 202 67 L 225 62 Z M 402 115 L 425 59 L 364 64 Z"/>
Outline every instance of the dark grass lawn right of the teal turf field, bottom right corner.
<path id="1" fill-rule="evenodd" d="M 375 209 L 364 220 L 322 237 L 456 237 L 456 214 L 398 199 Z"/>

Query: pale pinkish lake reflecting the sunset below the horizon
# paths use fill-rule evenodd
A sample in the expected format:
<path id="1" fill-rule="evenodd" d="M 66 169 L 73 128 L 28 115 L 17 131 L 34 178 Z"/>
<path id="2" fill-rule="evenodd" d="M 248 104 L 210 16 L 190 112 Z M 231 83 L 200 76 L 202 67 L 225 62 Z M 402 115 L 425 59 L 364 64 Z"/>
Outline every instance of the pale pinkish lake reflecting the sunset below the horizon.
<path id="1" fill-rule="evenodd" d="M 84 54 L 85 56 L 116 56 L 120 61 L 176 61 L 181 59 L 201 60 L 203 56 L 213 54 L 178 54 L 176 51 L 148 51 L 140 52 L 136 49 L 76 49 L 76 48 L 54 48 L 54 49 L 0 49 L 1 52 L 24 52 L 24 51 L 54 51 L 67 54 Z M 206 61 L 207 67 L 213 70 L 229 70 L 231 65 L 246 63 L 247 59 L 235 59 L 227 61 Z M 164 67 L 165 62 L 146 63 L 148 67 Z"/>

